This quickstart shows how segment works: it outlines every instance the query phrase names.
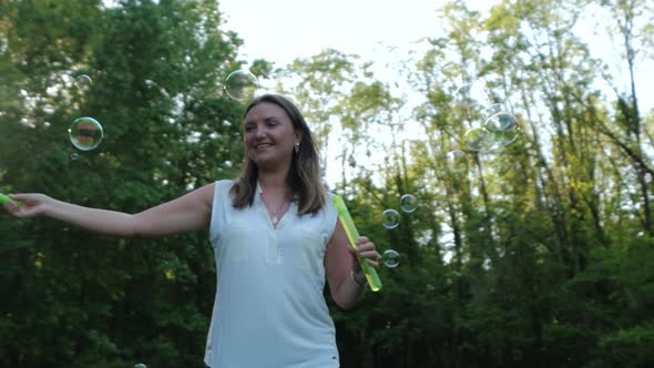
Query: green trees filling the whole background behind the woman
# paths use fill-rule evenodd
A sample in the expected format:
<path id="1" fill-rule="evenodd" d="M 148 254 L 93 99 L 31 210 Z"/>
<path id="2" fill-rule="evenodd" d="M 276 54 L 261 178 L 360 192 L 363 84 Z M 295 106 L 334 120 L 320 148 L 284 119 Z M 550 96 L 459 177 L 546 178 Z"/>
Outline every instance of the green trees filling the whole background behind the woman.
<path id="1" fill-rule="evenodd" d="M 327 296 L 343 367 L 652 367 L 653 6 L 453 1 L 395 58 L 279 64 L 244 58 L 216 1 L 4 0 L 0 192 L 136 213 L 234 177 L 244 103 L 223 82 L 248 68 L 302 108 L 359 232 L 401 254 L 356 309 Z M 518 117 L 501 150 L 466 149 L 484 105 L 456 92 L 478 81 Z M 82 152 L 68 127 L 86 115 L 105 136 Z M 417 209 L 385 228 L 403 194 Z M 0 214 L 0 234 L 1 366 L 202 367 L 205 232 L 122 239 Z"/>

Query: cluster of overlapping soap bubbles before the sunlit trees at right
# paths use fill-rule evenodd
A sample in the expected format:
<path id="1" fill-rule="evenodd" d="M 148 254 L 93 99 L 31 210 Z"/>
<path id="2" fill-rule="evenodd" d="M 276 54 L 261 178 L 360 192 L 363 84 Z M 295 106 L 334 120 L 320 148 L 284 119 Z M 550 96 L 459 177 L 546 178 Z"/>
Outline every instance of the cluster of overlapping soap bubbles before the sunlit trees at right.
<path id="1" fill-rule="evenodd" d="M 466 83 L 454 92 L 454 106 L 461 111 L 481 108 L 479 124 L 466 131 L 463 146 L 446 154 L 450 171 L 464 172 L 468 167 L 466 152 L 490 153 L 513 143 L 520 134 L 518 119 L 502 103 L 492 103 L 483 80 Z"/>

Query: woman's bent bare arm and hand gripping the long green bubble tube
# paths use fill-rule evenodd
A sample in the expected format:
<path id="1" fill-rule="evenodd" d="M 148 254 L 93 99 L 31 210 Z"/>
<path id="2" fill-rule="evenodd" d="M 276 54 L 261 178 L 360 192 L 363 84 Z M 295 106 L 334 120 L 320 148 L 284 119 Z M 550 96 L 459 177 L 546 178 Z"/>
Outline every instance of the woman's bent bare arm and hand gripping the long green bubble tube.
<path id="1" fill-rule="evenodd" d="M 337 221 L 325 253 L 325 272 L 331 298 L 343 309 L 356 306 L 368 287 L 357 256 L 365 258 L 371 266 L 379 267 L 377 260 L 380 255 L 375 249 L 375 244 L 361 236 L 357 239 L 357 249 L 352 248 L 343 225 Z M 352 277 L 362 280 L 362 284 L 358 284 Z"/>

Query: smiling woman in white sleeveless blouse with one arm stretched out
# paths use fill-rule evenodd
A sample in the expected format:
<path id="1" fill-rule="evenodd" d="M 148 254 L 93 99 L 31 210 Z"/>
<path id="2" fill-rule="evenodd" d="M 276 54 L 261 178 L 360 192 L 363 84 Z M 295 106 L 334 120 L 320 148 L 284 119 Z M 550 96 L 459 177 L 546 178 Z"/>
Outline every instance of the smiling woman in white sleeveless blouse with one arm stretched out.
<path id="1" fill-rule="evenodd" d="M 43 194 L 14 194 L 17 217 L 48 216 L 91 232 L 157 237 L 208 227 L 217 288 L 205 364 L 213 368 L 339 367 L 323 296 L 351 308 L 378 267 L 368 238 L 354 249 L 320 183 L 307 123 L 287 99 L 256 98 L 244 117 L 247 155 L 236 181 L 217 181 L 139 214 L 82 207 Z"/>

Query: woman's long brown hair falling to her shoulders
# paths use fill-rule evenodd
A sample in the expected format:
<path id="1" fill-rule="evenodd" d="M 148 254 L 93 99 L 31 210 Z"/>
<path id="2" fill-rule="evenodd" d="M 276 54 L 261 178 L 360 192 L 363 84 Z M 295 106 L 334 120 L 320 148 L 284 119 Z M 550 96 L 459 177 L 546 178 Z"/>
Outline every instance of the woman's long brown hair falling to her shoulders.
<path id="1" fill-rule="evenodd" d="M 295 150 L 293 152 L 290 170 L 286 180 L 296 196 L 298 214 L 317 214 L 325 205 L 325 186 L 320 182 L 318 149 L 311 131 L 293 102 L 277 94 L 263 94 L 254 99 L 245 110 L 244 119 L 252 108 L 263 102 L 274 103 L 282 108 L 290 117 L 295 131 L 300 133 L 299 152 L 296 153 Z M 229 190 L 233 197 L 232 206 L 243 208 L 253 204 L 257 180 L 257 165 L 246 154 L 241 166 L 241 174 Z"/>

